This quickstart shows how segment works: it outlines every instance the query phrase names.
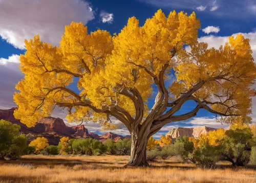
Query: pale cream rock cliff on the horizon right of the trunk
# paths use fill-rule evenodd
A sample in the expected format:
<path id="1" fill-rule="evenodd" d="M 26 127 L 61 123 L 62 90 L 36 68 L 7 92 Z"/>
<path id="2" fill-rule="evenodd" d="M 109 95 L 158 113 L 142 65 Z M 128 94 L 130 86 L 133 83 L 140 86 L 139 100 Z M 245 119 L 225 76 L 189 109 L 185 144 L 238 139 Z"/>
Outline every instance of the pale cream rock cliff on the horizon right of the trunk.
<path id="1" fill-rule="evenodd" d="M 217 128 L 210 128 L 207 126 L 199 126 L 195 128 L 184 128 L 178 127 L 170 130 L 166 133 L 167 136 L 170 136 L 172 139 L 177 139 L 179 136 L 188 136 L 198 138 L 201 134 L 205 134 L 208 131 L 217 130 Z"/>

